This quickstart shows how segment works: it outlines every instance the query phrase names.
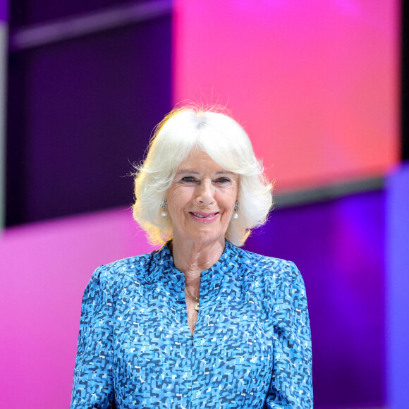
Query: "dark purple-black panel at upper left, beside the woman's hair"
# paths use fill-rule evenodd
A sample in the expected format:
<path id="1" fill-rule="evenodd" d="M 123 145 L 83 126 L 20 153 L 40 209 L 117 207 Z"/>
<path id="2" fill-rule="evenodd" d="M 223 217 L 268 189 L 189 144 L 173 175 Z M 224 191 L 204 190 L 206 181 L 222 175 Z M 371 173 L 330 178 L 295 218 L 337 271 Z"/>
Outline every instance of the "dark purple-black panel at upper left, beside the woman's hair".
<path id="1" fill-rule="evenodd" d="M 133 202 L 132 163 L 171 110 L 171 17 L 9 59 L 7 221 Z"/>

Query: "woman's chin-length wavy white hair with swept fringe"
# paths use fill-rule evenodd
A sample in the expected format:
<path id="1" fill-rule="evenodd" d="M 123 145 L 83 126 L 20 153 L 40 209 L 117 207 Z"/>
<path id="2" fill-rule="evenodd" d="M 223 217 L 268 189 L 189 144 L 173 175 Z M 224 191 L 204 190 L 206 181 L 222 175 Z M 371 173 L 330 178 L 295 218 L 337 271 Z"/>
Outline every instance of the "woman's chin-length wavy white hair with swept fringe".
<path id="1" fill-rule="evenodd" d="M 273 204 L 272 185 L 243 128 L 214 109 L 174 109 L 159 123 L 145 161 L 137 166 L 134 219 L 152 244 L 163 244 L 172 238 L 172 221 L 161 216 L 161 205 L 178 166 L 193 149 L 207 153 L 226 171 L 238 174 L 239 217 L 231 219 L 226 239 L 243 245 L 251 229 L 267 219 Z"/>

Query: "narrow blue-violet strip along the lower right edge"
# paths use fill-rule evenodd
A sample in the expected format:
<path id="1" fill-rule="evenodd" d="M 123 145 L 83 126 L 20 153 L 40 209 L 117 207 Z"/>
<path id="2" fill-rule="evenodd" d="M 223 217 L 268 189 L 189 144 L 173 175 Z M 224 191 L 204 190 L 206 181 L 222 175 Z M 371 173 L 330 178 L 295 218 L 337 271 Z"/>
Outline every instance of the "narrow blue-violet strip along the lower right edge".
<path id="1" fill-rule="evenodd" d="M 388 408 L 409 408 L 409 162 L 388 181 Z"/>

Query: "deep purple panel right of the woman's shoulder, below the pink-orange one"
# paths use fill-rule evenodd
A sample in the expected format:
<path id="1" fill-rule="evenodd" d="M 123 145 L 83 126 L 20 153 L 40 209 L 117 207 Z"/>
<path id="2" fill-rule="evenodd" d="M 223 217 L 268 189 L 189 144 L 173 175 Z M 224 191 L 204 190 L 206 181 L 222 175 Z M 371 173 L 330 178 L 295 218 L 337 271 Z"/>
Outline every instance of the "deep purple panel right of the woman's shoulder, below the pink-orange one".
<path id="1" fill-rule="evenodd" d="M 384 196 L 274 210 L 246 244 L 303 274 L 317 408 L 384 402 Z"/>

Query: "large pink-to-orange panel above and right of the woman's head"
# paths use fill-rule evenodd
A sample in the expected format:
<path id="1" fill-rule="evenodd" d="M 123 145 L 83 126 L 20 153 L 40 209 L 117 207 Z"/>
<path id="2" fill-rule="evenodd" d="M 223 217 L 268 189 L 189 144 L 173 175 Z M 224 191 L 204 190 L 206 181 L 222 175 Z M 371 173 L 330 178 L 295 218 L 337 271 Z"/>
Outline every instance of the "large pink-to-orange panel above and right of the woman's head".
<path id="1" fill-rule="evenodd" d="M 399 5 L 176 0 L 175 102 L 227 104 L 278 190 L 384 173 L 399 155 Z"/>

